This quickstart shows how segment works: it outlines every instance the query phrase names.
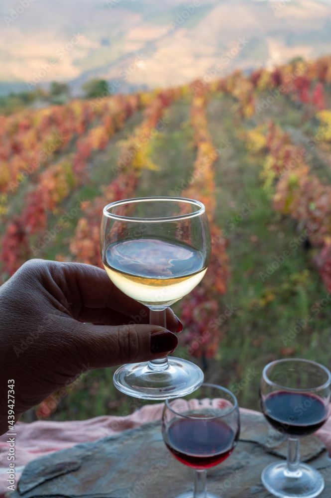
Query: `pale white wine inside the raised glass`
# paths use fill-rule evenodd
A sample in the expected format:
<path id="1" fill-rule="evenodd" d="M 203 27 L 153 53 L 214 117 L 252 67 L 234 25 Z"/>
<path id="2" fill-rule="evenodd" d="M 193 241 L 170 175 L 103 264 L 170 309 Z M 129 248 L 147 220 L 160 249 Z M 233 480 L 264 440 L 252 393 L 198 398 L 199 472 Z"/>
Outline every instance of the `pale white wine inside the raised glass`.
<path id="1" fill-rule="evenodd" d="M 111 244 L 106 250 L 105 268 L 125 294 L 151 307 L 169 306 L 181 299 L 207 269 L 200 251 L 157 239 Z"/>

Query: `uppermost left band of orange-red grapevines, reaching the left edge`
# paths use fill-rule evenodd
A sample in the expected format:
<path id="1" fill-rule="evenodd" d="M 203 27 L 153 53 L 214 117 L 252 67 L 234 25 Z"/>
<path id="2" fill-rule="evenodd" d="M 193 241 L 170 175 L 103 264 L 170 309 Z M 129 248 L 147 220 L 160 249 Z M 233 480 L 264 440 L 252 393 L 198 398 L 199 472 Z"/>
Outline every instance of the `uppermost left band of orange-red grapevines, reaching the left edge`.
<path id="1" fill-rule="evenodd" d="M 77 100 L 65 106 L 28 109 L 3 118 L 0 122 L 0 214 L 6 212 L 4 201 L 27 177 L 51 164 L 54 155 L 68 150 L 78 136 L 82 143 L 88 127 L 96 120 L 106 121 L 107 128 L 107 120 L 111 120 L 115 108 L 121 107 L 129 116 L 136 108 L 136 100 L 137 96 L 114 96 L 101 102 Z M 98 130 L 95 135 L 94 141 Z"/>

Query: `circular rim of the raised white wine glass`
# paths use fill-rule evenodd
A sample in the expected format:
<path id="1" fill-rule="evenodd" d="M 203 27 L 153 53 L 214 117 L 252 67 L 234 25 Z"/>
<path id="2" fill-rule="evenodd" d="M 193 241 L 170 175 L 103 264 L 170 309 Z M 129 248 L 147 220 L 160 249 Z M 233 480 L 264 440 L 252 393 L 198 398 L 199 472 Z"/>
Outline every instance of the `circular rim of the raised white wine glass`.
<path id="1" fill-rule="evenodd" d="M 159 218 L 136 218 L 136 217 L 130 217 L 130 216 L 121 216 L 121 215 L 116 215 L 116 214 L 111 214 L 109 213 L 108 209 L 112 206 L 122 206 L 124 204 L 133 204 L 133 203 L 138 203 L 141 201 L 145 202 L 151 202 L 151 201 L 170 201 L 170 202 L 184 202 L 186 204 L 191 204 L 191 205 L 196 205 L 197 211 L 194 211 L 193 213 L 188 213 L 187 215 L 176 215 L 176 216 L 161 216 Z M 117 221 L 130 221 L 130 222 L 149 222 L 149 223 L 156 223 L 160 222 L 161 220 L 186 220 L 188 218 L 194 218 L 196 216 L 200 216 L 203 213 L 206 212 L 205 205 L 197 201 L 195 199 L 188 199 L 186 197 L 167 197 L 167 196 L 152 196 L 152 197 L 134 197 L 132 199 L 122 199 L 121 201 L 115 201 L 111 202 L 110 204 L 107 204 L 107 206 L 104 207 L 103 209 L 103 215 L 107 216 L 107 218 L 111 218 L 113 220 Z"/>

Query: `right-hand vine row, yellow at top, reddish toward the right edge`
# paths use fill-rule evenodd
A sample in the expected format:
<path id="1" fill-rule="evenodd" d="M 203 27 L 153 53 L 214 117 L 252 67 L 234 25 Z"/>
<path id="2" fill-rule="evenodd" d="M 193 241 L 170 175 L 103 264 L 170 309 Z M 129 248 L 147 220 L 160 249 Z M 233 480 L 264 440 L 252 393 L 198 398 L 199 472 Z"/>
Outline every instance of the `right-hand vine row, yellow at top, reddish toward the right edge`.
<path id="1" fill-rule="evenodd" d="M 331 185 L 312 173 L 305 162 L 306 149 L 294 145 L 279 126 L 260 125 L 246 132 L 246 140 L 248 150 L 264 156 L 261 176 L 274 209 L 298 222 L 300 243 L 309 238 L 321 249 L 314 259 L 330 291 Z"/>

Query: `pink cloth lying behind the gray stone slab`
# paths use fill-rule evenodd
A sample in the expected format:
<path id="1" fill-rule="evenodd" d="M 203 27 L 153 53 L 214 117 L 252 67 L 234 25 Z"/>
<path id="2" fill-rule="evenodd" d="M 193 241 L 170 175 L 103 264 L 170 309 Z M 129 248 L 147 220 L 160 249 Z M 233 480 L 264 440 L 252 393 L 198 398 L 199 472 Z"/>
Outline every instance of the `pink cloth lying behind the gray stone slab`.
<path id="1" fill-rule="evenodd" d="M 78 443 L 96 441 L 111 436 L 126 429 L 139 427 L 147 422 L 161 418 L 163 403 L 145 405 L 126 417 L 105 415 L 83 421 L 51 422 L 38 421 L 30 424 L 17 422 L 15 431 L 0 436 L 0 498 L 8 492 L 6 471 L 9 463 L 15 464 L 15 488 L 22 468 L 31 460 L 48 455 L 57 450 L 71 448 Z M 241 413 L 257 413 L 240 408 Z M 15 433 L 13 436 L 10 432 Z M 326 445 L 331 454 L 331 418 L 324 424 L 316 435 Z M 15 460 L 7 460 L 9 452 L 9 438 L 14 438 Z"/>

